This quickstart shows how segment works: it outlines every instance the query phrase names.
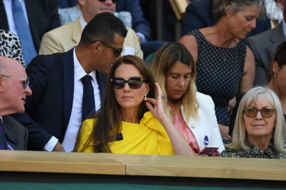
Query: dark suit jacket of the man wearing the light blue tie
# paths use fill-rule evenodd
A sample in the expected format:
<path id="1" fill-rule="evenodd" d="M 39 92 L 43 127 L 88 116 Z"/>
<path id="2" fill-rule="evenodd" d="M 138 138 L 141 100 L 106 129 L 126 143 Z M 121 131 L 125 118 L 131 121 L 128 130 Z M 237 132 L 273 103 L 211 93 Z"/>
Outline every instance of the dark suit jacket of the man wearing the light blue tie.
<path id="1" fill-rule="evenodd" d="M 36 51 L 47 31 L 61 26 L 56 0 L 25 0 L 27 16 Z M 0 29 L 8 30 L 9 25 L 3 1 L 0 0 Z"/>

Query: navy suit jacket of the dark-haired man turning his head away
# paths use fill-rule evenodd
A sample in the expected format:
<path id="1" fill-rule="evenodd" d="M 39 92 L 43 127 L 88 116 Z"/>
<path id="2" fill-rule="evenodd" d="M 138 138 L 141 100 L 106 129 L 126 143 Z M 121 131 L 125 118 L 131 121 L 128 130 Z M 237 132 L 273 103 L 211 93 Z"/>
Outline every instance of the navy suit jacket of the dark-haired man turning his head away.
<path id="1" fill-rule="evenodd" d="M 52 136 L 62 143 L 72 112 L 73 49 L 66 53 L 38 55 L 27 66 L 32 96 L 27 96 L 26 112 L 13 117 L 29 130 L 28 150 L 42 150 Z M 97 73 L 101 98 L 106 75 Z"/>

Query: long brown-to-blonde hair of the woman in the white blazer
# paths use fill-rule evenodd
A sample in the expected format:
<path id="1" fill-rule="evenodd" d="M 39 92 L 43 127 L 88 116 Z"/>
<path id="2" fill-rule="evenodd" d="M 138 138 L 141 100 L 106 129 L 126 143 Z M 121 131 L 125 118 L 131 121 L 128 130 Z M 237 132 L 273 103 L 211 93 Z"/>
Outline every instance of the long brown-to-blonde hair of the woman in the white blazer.
<path id="1" fill-rule="evenodd" d="M 180 104 L 183 105 L 183 113 L 186 116 L 186 122 L 189 118 L 199 119 L 197 110 L 199 104 L 196 99 L 197 87 L 196 80 L 196 66 L 192 55 L 189 51 L 180 43 L 171 42 L 161 47 L 155 54 L 154 60 L 151 64 L 151 70 L 153 72 L 155 81 L 161 86 L 163 94 L 166 95 L 165 108 L 168 116 L 172 118 L 172 109 L 170 101 L 166 93 L 166 76 L 171 72 L 174 64 L 179 61 L 191 69 L 190 83 L 186 92 L 181 97 Z"/>

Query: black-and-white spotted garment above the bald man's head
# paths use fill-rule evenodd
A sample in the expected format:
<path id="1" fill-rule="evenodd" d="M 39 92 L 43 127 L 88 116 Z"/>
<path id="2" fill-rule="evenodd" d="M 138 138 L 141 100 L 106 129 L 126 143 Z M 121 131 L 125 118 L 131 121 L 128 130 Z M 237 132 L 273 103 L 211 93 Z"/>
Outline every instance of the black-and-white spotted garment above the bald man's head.
<path id="1" fill-rule="evenodd" d="M 20 40 L 15 34 L 0 29 L 0 55 L 19 61 L 25 67 Z"/>

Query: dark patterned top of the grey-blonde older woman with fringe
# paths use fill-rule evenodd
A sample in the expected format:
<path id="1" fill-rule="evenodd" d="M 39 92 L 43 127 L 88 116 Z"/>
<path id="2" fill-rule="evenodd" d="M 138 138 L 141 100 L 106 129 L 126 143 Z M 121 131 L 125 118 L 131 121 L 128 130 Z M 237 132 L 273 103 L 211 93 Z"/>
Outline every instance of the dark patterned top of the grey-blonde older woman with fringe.
<path id="1" fill-rule="evenodd" d="M 250 142 L 246 142 L 246 145 L 250 147 L 250 152 L 245 150 L 230 150 L 225 149 L 220 153 L 221 157 L 234 157 L 234 158 L 265 158 L 265 159 L 286 159 L 286 154 L 277 152 L 272 143 L 269 143 L 266 149 L 263 151 Z M 286 149 L 286 141 L 284 141 L 284 149 Z"/>

